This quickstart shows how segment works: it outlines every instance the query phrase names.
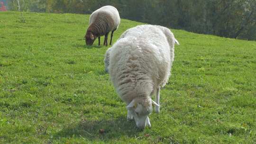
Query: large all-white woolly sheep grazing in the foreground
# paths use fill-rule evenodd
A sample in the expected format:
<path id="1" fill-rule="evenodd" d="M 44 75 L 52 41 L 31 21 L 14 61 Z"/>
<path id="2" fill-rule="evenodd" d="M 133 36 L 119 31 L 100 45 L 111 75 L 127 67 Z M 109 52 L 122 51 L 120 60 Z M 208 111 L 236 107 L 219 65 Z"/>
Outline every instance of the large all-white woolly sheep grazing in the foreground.
<path id="1" fill-rule="evenodd" d="M 151 126 L 152 105 L 160 112 L 160 87 L 170 76 L 175 43 L 178 41 L 168 28 L 141 25 L 125 31 L 106 52 L 105 68 L 127 104 L 127 118 L 134 118 L 138 128 Z M 156 102 L 151 99 L 153 94 Z"/>

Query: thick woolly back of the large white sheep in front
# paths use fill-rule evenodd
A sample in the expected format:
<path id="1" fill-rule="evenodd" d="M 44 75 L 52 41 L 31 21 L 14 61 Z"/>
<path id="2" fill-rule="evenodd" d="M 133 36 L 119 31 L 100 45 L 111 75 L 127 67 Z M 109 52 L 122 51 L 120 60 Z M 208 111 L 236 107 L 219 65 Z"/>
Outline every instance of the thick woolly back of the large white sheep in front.
<path id="1" fill-rule="evenodd" d="M 119 95 L 137 91 L 143 84 L 152 90 L 164 85 L 170 75 L 171 56 L 163 32 L 147 26 L 124 34 L 110 53 L 110 77 Z"/>

